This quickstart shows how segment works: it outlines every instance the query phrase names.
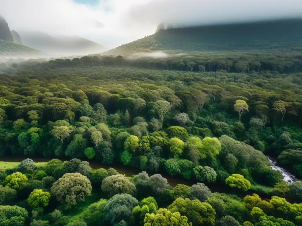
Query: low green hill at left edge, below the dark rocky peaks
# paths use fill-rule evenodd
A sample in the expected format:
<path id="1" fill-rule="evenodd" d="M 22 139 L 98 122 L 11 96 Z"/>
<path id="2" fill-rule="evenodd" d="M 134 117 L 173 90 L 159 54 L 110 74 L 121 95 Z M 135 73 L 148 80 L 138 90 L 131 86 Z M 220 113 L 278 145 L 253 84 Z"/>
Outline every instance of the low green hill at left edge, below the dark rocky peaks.
<path id="1" fill-rule="evenodd" d="M 8 42 L 0 40 L 0 55 L 6 54 L 28 54 L 37 53 L 37 49 L 32 49 L 24 45 L 20 45 L 14 42 Z"/>

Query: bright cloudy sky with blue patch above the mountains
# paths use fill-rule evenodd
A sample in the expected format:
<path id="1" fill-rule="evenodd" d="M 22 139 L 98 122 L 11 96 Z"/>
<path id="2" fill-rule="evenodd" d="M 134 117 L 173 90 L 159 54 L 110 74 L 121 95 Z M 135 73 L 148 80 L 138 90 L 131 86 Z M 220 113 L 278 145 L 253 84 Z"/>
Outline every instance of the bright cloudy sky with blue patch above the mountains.
<path id="1" fill-rule="evenodd" d="M 108 48 L 159 23 L 209 24 L 302 16 L 302 0 L 0 0 L 11 29 L 78 35 Z"/>

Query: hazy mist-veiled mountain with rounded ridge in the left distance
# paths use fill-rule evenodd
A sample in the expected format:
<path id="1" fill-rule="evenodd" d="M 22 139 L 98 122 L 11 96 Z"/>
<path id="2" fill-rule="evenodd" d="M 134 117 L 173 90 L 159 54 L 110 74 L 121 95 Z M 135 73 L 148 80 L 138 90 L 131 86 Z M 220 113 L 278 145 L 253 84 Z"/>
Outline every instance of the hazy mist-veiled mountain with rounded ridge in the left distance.
<path id="1" fill-rule="evenodd" d="M 24 45 L 55 53 L 95 53 L 104 51 L 104 47 L 96 42 L 79 36 L 51 36 L 47 33 L 19 31 Z"/>

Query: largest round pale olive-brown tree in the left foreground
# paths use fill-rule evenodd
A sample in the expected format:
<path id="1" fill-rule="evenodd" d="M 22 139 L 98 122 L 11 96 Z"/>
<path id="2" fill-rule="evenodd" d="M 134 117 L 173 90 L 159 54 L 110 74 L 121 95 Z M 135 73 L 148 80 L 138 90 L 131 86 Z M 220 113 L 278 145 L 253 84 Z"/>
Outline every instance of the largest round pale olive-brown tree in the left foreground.
<path id="1" fill-rule="evenodd" d="M 68 206 L 83 202 L 90 196 L 92 187 L 90 180 L 79 173 L 66 173 L 51 187 L 51 194 Z"/>

